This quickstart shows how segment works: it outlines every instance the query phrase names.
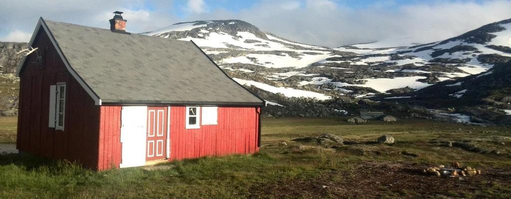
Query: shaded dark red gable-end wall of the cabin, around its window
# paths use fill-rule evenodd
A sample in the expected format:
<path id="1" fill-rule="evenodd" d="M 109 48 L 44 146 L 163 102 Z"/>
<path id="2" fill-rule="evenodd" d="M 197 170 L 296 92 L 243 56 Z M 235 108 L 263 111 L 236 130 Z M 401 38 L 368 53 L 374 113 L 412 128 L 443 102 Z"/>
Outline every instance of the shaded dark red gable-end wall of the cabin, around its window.
<path id="1" fill-rule="evenodd" d="M 20 72 L 20 110 L 16 147 L 48 158 L 78 161 L 89 168 L 98 165 L 99 106 L 65 68 L 56 49 L 42 29 L 32 47 L 38 47 L 43 64 L 36 65 L 36 53 L 27 57 Z M 64 130 L 48 127 L 50 85 L 66 83 Z"/>

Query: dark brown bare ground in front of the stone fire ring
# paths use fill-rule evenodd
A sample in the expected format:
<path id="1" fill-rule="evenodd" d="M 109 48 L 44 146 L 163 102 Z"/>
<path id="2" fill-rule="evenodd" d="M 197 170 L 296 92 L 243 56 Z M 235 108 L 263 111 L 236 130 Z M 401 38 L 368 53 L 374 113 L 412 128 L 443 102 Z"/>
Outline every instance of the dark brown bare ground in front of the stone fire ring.
<path id="1" fill-rule="evenodd" d="M 361 162 L 346 171 L 330 171 L 315 178 L 260 184 L 254 197 L 296 198 L 456 198 L 484 197 L 478 191 L 511 181 L 511 168 L 485 168 L 485 174 L 459 178 L 423 174 L 428 165 Z M 262 193 L 262 194 L 261 194 Z"/>

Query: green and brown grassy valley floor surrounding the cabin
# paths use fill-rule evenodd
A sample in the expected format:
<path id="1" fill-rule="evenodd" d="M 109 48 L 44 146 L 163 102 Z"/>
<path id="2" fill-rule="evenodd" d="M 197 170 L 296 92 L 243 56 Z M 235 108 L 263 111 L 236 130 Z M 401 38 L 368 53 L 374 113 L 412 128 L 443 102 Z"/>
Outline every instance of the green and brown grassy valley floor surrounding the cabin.
<path id="1" fill-rule="evenodd" d="M 0 118 L 1 135 L 12 133 L 15 122 Z M 65 161 L 0 155 L 0 198 L 511 197 L 508 127 L 411 119 L 351 125 L 345 118 L 263 119 L 262 124 L 258 154 L 176 161 L 169 163 L 175 167 L 164 170 L 93 172 Z M 361 144 L 332 149 L 291 141 L 322 133 Z M 371 144 L 384 134 L 396 143 Z M 14 139 L 2 141 L 9 140 Z M 500 154 L 448 147 L 448 140 Z M 482 175 L 461 180 L 421 172 L 455 161 L 480 168 Z"/>

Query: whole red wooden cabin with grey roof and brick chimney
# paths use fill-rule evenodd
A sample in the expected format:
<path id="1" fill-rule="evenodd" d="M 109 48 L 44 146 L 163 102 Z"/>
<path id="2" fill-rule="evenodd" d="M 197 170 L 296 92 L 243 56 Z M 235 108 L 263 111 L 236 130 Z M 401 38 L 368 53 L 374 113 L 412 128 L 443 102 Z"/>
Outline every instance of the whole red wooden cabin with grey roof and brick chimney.
<path id="1" fill-rule="evenodd" d="M 88 168 L 251 154 L 264 101 L 191 41 L 39 19 L 18 69 L 17 149 Z"/>

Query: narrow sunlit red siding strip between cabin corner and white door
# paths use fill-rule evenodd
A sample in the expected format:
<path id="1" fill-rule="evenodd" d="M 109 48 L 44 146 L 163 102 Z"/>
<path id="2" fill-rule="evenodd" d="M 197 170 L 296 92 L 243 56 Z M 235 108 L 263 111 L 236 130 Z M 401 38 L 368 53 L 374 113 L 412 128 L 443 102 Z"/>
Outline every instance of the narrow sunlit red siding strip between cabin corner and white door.
<path id="1" fill-rule="evenodd" d="M 98 169 L 119 168 L 122 106 L 101 106 L 100 109 Z"/>

